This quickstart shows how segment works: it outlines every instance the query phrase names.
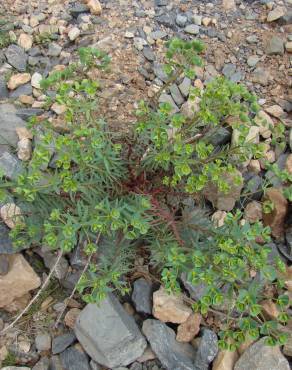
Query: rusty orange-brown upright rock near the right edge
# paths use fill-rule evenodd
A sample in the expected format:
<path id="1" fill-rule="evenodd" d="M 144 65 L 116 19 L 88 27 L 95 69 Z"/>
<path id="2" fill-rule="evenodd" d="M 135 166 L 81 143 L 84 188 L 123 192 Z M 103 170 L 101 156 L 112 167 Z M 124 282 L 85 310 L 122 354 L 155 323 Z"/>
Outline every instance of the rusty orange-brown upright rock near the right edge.
<path id="1" fill-rule="evenodd" d="M 273 210 L 270 213 L 263 214 L 265 226 L 270 226 L 272 235 L 278 238 L 284 233 L 284 220 L 287 214 L 288 202 L 283 196 L 281 190 L 269 188 L 263 199 L 273 204 Z"/>

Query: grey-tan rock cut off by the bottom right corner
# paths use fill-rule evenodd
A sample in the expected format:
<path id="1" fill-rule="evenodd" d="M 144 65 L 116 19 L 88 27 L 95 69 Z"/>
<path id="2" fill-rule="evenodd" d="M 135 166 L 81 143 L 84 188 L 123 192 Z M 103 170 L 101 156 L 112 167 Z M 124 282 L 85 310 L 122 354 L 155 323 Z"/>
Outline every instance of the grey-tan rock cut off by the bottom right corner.
<path id="1" fill-rule="evenodd" d="M 289 370 L 279 346 L 266 346 L 265 339 L 251 345 L 236 362 L 234 370 Z"/>

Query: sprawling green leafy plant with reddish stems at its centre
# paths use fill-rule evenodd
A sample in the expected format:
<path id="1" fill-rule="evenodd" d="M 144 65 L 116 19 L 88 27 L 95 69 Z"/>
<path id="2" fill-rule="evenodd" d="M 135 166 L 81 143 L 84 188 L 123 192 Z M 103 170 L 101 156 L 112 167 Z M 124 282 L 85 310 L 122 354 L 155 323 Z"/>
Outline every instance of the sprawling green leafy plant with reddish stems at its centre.
<path id="1" fill-rule="evenodd" d="M 125 276 L 142 254 L 169 292 L 181 290 L 182 274 L 200 286 L 198 300 L 187 300 L 203 315 L 219 317 L 222 348 L 261 334 L 270 344 L 283 343 L 285 266 L 280 259 L 270 262 L 269 229 L 241 222 L 239 210 L 215 228 L 201 206 L 209 184 L 228 193 L 226 174 L 241 184 L 237 169 L 262 158 L 261 144 L 246 140 L 255 125 L 256 97 L 219 77 L 204 89 L 190 89 L 188 115 L 159 103 L 172 83 L 195 78 L 203 49 L 199 41 L 167 44 L 169 82 L 152 101 L 139 104 L 137 124 L 125 135 L 96 118 L 100 85 L 88 72 L 106 73 L 103 52 L 82 48 L 78 62 L 43 80 L 51 91 L 48 106 L 66 106 L 64 122 L 56 132 L 49 121 L 33 119 L 31 161 L 15 181 L 3 178 L 2 201 L 13 198 L 23 212 L 11 237 L 16 247 L 46 245 L 69 253 L 83 246 L 94 256 L 78 285 L 86 302 L 98 302 L 111 290 L 127 292 Z M 237 130 L 236 146 L 217 143 L 223 127 Z M 277 320 L 264 317 L 264 299 L 279 307 Z"/>

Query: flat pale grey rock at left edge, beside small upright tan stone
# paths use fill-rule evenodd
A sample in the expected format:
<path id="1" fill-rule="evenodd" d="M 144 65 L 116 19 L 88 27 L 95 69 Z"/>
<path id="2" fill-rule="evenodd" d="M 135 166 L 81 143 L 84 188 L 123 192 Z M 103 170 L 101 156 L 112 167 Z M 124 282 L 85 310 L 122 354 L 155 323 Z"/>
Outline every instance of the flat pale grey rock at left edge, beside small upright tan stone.
<path id="1" fill-rule="evenodd" d="M 16 115 L 16 108 L 12 104 L 0 105 L 0 154 L 16 147 L 18 137 L 17 127 L 25 127 L 25 122 Z"/>

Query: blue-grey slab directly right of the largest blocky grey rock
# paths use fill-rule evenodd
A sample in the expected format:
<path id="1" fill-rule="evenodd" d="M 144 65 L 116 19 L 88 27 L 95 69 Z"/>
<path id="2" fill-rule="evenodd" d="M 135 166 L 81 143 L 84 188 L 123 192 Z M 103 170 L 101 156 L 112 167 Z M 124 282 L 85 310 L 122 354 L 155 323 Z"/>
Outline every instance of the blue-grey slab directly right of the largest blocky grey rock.
<path id="1" fill-rule="evenodd" d="M 148 319 L 142 331 L 162 365 L 167 370 L 199 370 L 194 367 L 195 349 L 175 340 L 175 332 L 166 324 Z"/>

